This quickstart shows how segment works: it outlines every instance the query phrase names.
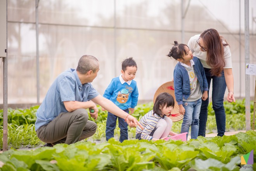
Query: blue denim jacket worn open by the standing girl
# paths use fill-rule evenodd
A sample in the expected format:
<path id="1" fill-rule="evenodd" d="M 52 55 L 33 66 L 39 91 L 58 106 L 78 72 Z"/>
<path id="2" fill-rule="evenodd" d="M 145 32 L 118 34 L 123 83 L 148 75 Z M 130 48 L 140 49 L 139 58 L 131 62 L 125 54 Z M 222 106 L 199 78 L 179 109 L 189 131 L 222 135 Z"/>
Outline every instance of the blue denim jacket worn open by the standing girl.
<path id="1" fill-rule="evenodd" d="M 208 83 L 207 79 L 204 73 L 204 67 L 202 66 L 202 63 L 197 57 L 193 57 L 192 59 L 194 61 L 194 72 L 197 76 L 197 79 L 199 81 L 199 85 L 201 88 L 201 91 L 208 91 Z M 189 98 L 190 96 L 190 81 L 189 81 L 189 74 L 187 72 L 187 69 L 185 69 L 184 66 L 178 62 L 174 68 L 174 92 L 175 92 L 175 98 L 178 105 L 182 104 L 182 99 Z"/>

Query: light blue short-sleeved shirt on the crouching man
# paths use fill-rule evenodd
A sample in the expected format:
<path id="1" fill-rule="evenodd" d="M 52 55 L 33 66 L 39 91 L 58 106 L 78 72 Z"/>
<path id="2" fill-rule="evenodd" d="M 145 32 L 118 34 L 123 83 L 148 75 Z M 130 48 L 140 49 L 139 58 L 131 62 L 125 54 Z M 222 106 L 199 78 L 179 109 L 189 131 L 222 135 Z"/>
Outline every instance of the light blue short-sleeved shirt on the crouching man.
<path id="1" fill-rule="evenodd" d="M 61 112 L 68 112 L 63 102 L 86 102 L 98 95 L 91 83 L 81 84 L 75 69 L 68 69 L 55 79 L 38 108 L 35 130 L 48 124 Z"/>

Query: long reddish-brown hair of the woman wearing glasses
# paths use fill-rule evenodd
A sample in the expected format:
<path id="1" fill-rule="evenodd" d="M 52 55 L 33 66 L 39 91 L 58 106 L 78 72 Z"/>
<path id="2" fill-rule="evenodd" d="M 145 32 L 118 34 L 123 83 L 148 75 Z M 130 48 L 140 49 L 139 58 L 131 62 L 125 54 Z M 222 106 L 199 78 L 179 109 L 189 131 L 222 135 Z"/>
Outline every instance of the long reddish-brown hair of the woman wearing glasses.
<path id="1" fill-rule="evenodd" d="M 220 76 L 223 67 L 225 67 L 224 46 L 228 46 L 226 40 L 221 37 L 216 29 L 207 29 L 201 33 L 200 38 L 206 47 L 206 62 L 211 66 L 211 74 Z M 223 44 L 222 41 L 226 43 Z"/>

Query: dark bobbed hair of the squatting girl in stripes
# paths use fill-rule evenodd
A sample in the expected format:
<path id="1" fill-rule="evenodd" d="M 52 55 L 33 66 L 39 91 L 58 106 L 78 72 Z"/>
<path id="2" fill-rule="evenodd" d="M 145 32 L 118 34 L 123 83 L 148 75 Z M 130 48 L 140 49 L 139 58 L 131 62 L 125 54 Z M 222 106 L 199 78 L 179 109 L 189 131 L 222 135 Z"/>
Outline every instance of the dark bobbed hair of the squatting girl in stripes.
<path id="1" fill-rule="evenodd" d="M 159 109 L 159 107 L 164 107 L 165 105 L 168 106 L 172 106 L 174 107 L 174 98 L 172 95 L 170 95 L 169 93 L 160 93 L 157 97 L 156 97 L 156 101 L 155 104 L 153 106 L 153 114 L 157 114 L 158 116 L 160 116 L 160 114 L 162 114 L 161 110 Z"/>

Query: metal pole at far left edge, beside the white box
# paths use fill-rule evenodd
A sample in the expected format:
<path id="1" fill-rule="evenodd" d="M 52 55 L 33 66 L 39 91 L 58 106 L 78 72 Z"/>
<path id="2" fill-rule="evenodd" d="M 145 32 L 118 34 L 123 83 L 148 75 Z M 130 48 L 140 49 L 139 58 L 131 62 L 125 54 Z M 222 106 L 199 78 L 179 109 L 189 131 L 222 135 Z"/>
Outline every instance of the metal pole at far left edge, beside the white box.
<path id="1" fill-rule="evenodd" d="M 3 57 L 3 151 L 7 150 L 8 137 L 8 23 L 6 0 L 6 57 Z"/>

